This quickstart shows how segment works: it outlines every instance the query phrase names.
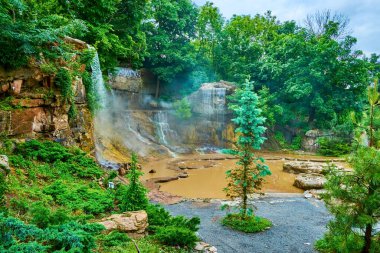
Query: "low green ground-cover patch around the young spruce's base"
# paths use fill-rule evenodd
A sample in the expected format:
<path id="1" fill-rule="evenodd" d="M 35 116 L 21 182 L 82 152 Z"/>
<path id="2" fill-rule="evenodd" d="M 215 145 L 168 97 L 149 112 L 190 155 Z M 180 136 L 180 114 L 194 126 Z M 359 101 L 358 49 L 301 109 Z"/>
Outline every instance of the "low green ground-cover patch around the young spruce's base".
<path id="1" fill-rule="evenodd" d="M 264 231 L 272 226 L 272 222 L 265 218 L 254 215 L 242 218 L 241 214 L 228 214 L 222 219 L 222 224 L 245 233 Z"/>

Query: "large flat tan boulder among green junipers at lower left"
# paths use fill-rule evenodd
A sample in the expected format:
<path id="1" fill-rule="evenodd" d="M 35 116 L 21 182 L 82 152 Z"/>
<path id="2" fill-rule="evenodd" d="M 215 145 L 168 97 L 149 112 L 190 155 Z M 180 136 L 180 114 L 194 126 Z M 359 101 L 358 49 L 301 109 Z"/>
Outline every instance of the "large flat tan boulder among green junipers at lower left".
<path id="1" fill-rule="evenodd" d="M 148 215 L 144 210 L 125 212 L 113 214 L 98 223 L 102 224 L 107 232 L 118 230 L 127 233 L 132 238 L 138 239 L 146 235 Z"/>

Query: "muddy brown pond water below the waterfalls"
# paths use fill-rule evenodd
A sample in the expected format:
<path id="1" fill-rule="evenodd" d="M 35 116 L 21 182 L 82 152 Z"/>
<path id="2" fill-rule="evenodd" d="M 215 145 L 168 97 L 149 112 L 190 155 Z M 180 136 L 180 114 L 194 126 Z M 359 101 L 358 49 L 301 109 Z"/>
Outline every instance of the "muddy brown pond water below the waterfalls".
<path id="1" fill-rule="evenodd" d="M 331 158 L 314 155 L 295 155 L 283 153 L 261 153 L 266 159 L 272 175 L 265 178 L 262 191 L 265 193 L 302 193 L 303 190 L 293 186 L 296 175 L 283 172 L 283 164 L 286 160 L 326 160 Z M 227 184 L 226 171 L 236 166 L 236 159 L 224 159 L 220 154 L 208 155 L 183 155 L 177 158 L 164 158 L 143 163 L 145 172 L 143 178 L 170 177 L 179 174 L 173 164 L 187 163 L 199 168 L 185 170 L 189 177 L 180 178 L 161 184 L 161 191 L 187 198 L 226 198 L 223 188 Z M 210 167 L 203 167 L 205 159 L 211 161 Z M 156 173 L 148 173 L 154 169 Z"/>

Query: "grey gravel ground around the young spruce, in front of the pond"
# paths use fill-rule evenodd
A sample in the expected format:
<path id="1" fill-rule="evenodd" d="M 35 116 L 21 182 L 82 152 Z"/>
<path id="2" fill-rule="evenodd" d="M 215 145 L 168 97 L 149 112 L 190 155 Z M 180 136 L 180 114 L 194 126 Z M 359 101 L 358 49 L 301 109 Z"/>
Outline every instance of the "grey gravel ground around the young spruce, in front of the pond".
<path id="1" fill-rule="evenodd" d="M 303 197 L 265 197 L 255 201 L 256 214 L 270 219 L 273 227 L 257 234 L 245 234 L 220 225 L 225 215 L 220 202 L 182 202 L 166 206 L 174 215 L 198 216 L 199 236 L 218 253 L 306 253 L 316 252 L 331 216 L 320 200 Z"/>

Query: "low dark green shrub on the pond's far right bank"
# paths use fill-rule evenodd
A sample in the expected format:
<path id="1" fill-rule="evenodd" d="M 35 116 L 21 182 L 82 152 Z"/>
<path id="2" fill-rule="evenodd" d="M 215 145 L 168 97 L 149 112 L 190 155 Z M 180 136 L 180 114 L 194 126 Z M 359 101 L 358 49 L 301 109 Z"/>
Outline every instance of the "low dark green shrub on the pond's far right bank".
<path id="1" fill-rule="evenodd" d="M 318 153 L 325 156 L 340 156 L 350 153 L 351 145 L 339 138 L 318 138 Z"/>

